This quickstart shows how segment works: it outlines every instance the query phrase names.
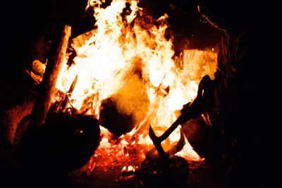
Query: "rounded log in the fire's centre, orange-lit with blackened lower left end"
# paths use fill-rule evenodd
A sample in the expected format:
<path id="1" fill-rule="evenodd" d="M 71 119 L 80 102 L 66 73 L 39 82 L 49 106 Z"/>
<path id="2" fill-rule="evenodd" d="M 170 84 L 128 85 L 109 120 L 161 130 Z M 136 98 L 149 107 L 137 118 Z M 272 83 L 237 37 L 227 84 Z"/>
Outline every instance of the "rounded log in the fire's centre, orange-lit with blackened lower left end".
<path id="1" fill-rule="evenodd" d="M 116 94 L 102 101 L 99 123 L 115 136 L 130 132 L 145 118 L 149 99 L 140 75 L 135 71 Z"/>

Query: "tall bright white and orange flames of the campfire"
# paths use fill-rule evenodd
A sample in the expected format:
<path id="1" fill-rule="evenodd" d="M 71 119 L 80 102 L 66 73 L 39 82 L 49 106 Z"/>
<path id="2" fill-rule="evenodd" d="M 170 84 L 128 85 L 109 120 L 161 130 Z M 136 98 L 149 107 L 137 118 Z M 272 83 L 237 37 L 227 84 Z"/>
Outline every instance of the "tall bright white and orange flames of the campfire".
<path id="1" fill-rule="evenodd" d="M 113 0 L 106 7 L 103 3 L 89 1 L 97 29 L 90 32 L 83 44 L 73 39 L 77 56 L 70 67 L 67 63 L 63 65 L 56 88 L 68 94 L 77 77 L 72 94 L 68 94 L 69 106 L 96 118 L 102 101 L 114 99 L 118 111 L 130 114 L 135 126 L 120 137 L 123 142 L 119 148 L 135 144 L 144 156 L 153 148 L 147 135 L 149 125 L 161 134 L 176 120 L 176 112 L 195 98 L 201 77 L 214 73 L 216 53 L 185 50 L 180 57 L 174 57 L 173 37 L 165 37 L 168 15 L 153 20 L 137 6 L 136 0 Z M 104 138 L 98 150 L 106 151 L 112 145 L 109 132 L 105 129 L 102 132 Z M 164 142 L 164 149 L 171 149 L 179 135 L 177 129 Z M 177 154 L 201 160 L 187 139 L 185 143 Z"/>

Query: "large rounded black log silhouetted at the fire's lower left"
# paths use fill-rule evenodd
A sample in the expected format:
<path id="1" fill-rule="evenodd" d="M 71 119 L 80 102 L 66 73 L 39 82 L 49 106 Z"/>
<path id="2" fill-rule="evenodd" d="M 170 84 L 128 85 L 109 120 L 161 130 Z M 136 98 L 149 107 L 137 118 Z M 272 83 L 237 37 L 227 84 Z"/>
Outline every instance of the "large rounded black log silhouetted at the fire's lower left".
<path id="1" fill-rule="evenodd" d="M 90 115 L 49 114 L 44 125 L 23 135 L 17 156 L 33 173 L 69 173 L 90 160 L 99 134 L 99 122 Z"/>

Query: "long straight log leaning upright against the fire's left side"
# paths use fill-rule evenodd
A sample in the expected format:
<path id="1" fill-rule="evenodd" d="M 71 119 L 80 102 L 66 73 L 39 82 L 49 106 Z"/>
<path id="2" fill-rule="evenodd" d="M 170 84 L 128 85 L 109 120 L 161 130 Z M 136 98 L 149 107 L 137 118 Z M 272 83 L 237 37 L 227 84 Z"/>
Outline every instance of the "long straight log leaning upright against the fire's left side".
<path id="1" fill-rule="evenodd" d="M 63 27 L 61 37 L 54 39 L 42 82 L 39 84 L 35 106 L 32 108 L 29 129 L 42 125 L 47 116 L 51 99 L 56 90 L 56 80 L 66 57 L 68 39 L 71 37 L 71 26 Z"/>

